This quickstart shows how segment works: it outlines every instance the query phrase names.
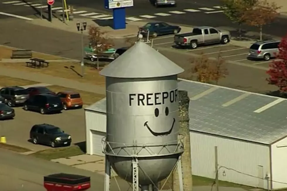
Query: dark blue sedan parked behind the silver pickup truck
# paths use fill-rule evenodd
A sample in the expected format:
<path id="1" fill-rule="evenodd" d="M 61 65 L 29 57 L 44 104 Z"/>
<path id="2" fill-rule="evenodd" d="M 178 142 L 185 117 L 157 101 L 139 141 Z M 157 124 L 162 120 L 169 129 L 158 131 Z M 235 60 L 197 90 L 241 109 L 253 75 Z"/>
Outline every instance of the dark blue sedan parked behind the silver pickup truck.
<path id="1" fill-rule="evenodd" d="M 149 36 L 157 37 L 158 35 L 170 35 L 177 34 L 181 30 L 180 26 L 169 25 L 164 22 L 153 22 L 146 23 L 143 27 L 139 28 L 139 32 L 143 36 L 147 36 L 149 32 Z"/>

